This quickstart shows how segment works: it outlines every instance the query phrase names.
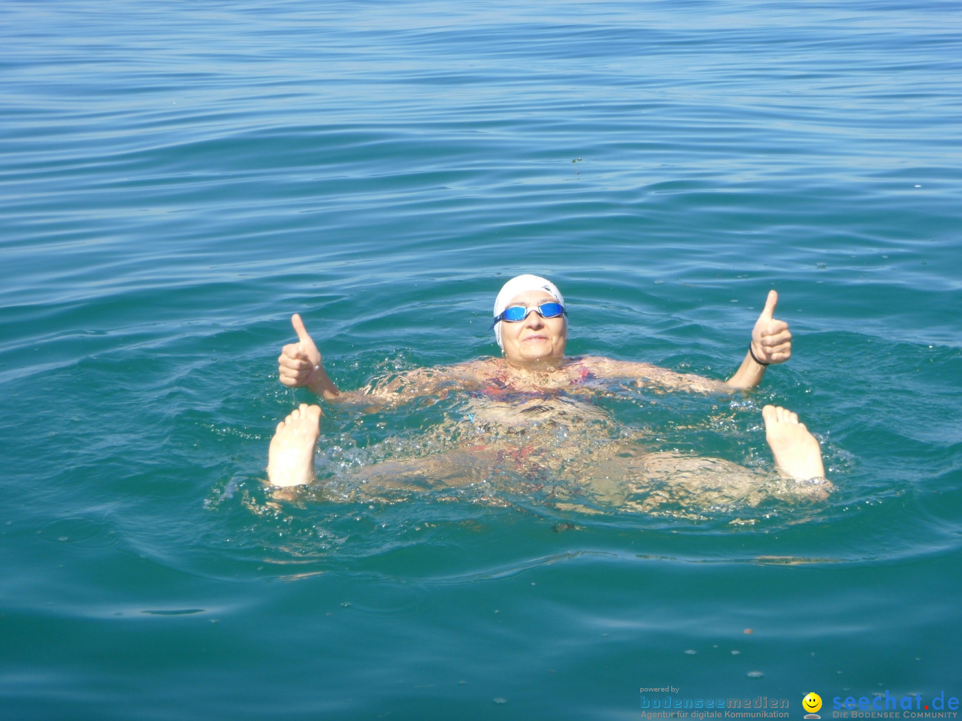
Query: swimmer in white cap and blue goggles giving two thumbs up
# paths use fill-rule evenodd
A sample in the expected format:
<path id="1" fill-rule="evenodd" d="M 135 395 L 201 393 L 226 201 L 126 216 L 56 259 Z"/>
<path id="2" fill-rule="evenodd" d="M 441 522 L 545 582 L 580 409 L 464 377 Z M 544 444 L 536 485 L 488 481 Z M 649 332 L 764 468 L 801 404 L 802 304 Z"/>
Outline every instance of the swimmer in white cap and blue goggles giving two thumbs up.
<path id="1" fill-rule="evenodd" d="M 494 302 L 494 336 L 502 357 L 472 360 L 450 366 L 420 368 L 356 391 L 342 391 L 324 370 L 320 352 L 301 317 L 291 325 L 296 343 L 285 345 L 279 364 L 280 381 L 288 387 L 306 387 L 329 403 L 364 408 L 394 408 L 401 403 L 452 393 L 468 397 L 474 428 L 490 442 L 476 443 L 428 459 L 394 460 L 366 470 L 370 487 L 410 487 L 407 479 L 431 478 L 443 485 L 482 481 L 508 468 L 530 478 L 533 470 L 573 474 L 577 485 L 591 488 L 595 497 L 635 508 L 652 510 L 682 499 L 698 506 L 741 499 L 751 505 L 762 495 L 822 499 L 832 490 L 824 479 L 819 442 L 790 410 L 766 406 L 762 410 L 766 439 L 786 490 L 759 491 L 762 474 L 735 463 L 677 453 L 646 453 L 613 442 L 590 465 L 575 467 L 580 449 L 570 441 L 557 441 L 556 431 L 609 422 L 607 414 L 579 397 L 590 396 L 592 381 L 620 379 L 638 386 L 703 393 L 732 392 L 761 383 L 769 365 L 792 355 L 788 324 L 773 317 L 778 294 L 769 292 L 764 310 L 751 333 L 745 359 L 735 374 L 722 383 L 696 375 L 675 373 L 648 363 L 603 357 L 565 356 L 568 318 L 565 300 L 554 284 L 534 275 L 508 281 Z M 301 404 L 281 423 L 270 441 L 267 476 L 272 485 L 307 485 L 315 480 L 314 456 L 319 435 L 319 406 Z M 573 434 L 575 435 L 576 434 Z M 567 442 L 567 445 L 566 445 Z M 573 469 L 573 470 L 572 470 Z M 420 485 L 418 487 L 423 487 Z M 634 494 L 644 497 L 631 501 Z"/>

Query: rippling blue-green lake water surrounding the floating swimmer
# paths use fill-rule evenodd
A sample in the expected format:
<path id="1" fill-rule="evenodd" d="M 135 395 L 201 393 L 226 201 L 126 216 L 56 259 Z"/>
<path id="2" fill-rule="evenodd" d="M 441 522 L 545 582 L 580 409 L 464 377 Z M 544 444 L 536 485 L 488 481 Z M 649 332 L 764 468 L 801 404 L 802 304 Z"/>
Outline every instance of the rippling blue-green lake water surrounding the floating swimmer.
<path id="1" fill-rule="evenodd" d="M 956 3 L 0 20 L 5 718 L 962 696 Z M 273 497 L 267 441 L 310 399 L 276 381 L 291 312 L 359 387 L 494 354 L 519 272 L 564 291 L 570 353 L 713 378 L 777 288 L 795 355 L 758 391 L 610 410 L 765 467 L 785 405 L 838 491 L 698 518 Z M 321 443 L 363 462 L 432 412 L 329 408 Z"/>

